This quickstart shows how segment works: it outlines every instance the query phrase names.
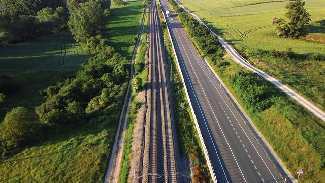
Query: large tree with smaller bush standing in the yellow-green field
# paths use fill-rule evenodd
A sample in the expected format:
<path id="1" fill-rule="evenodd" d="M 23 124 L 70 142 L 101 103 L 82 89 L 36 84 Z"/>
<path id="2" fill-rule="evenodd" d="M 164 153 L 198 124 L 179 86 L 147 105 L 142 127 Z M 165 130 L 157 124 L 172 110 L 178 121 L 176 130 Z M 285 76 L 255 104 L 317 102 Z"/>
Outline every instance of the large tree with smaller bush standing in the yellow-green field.
<path id="1" fill-rule="evenodd" d="M 276 33 L 280 37 L 298 38 L 304 33 L 304 25 L 309 24 L 310 14 L 307 13 L 304 1 L 289 2 L 285 8 L 288 9 L 285 16 L 290 20 L 286 23 L 284 19 L 273 17 L 271 24 L 277 24 Z"/>

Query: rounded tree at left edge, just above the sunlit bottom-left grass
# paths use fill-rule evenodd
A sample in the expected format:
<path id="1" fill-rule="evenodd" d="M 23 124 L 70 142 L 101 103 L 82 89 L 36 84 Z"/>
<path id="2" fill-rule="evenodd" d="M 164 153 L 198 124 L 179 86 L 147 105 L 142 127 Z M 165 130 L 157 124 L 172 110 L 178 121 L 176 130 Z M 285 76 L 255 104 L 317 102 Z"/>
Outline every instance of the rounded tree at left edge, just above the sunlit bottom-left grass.
<path id="1" fill-rule="evenodd" d="M 21 142 L 35 139 L 40 123 L 34 113 L 24 107 L 8 112 L 0 125 L 0 139 L 6 149 L 18 147 Z"/>

